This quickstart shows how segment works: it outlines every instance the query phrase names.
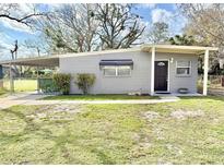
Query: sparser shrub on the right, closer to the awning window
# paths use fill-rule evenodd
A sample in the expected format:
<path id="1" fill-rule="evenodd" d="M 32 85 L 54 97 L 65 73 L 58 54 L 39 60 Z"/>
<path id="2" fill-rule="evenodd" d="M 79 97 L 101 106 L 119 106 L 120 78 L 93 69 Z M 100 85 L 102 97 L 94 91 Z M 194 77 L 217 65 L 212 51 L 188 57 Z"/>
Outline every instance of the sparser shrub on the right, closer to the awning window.
<path id="1" fill-rule="evenodd" d="M 86 95 L 89 93 L 90 87 L 95 82 L 95 74 L 91 73 L 78 73 L 76 81 L 74 82 L 80 89 L 82 89 L 83 94 Z"/>

